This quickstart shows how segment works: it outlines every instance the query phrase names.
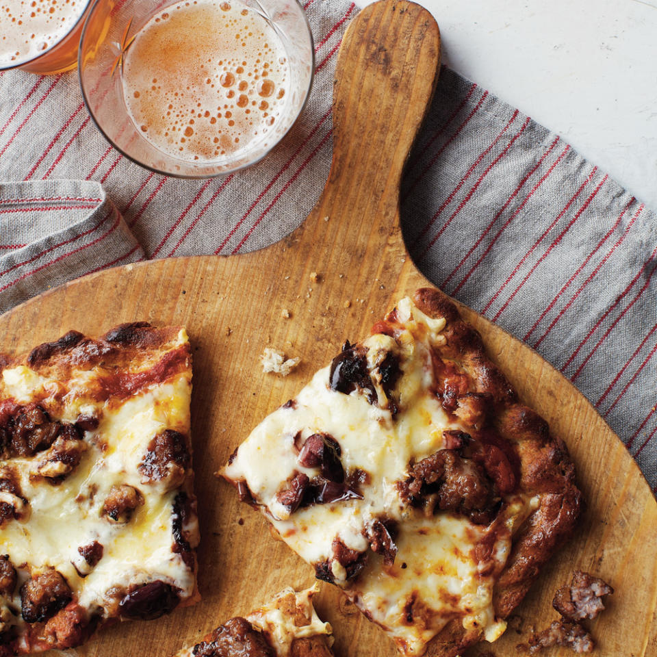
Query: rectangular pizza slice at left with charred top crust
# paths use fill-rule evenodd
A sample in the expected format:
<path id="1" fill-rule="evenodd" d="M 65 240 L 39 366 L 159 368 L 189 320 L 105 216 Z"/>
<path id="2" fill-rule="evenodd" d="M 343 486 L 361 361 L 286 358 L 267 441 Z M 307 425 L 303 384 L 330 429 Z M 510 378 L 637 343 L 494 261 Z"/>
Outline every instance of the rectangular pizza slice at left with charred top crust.
<path id="1" fill-rule="evenodd" d="M 198 600 L 185 329 L 0 357 L 0 657 Z"/>

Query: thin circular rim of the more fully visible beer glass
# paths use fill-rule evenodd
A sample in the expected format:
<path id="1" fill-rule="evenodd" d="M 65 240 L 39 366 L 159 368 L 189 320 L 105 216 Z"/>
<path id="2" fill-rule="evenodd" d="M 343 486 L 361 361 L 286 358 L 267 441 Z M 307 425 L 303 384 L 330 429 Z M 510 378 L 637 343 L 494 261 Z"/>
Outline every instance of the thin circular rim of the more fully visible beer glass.
<path id="1" fill-rule="evenodd" d="M 88 13 L 86 21 L 84 23 L 84 26 L 82 28 L 82 32 L 80 34 L 80 42 L 79 42 L 78 47 L 77 47 L 77 77 L 78 77 L 78 81 L 79 81 L 79 85 L 80 85 L 80 90 L 82 92 L 82 99 L 84 101 L 84 105 L 86 107 L 86 110 L 87 110 L 89 116 L 91 117 L 91 120 L 94 122 L 94 125 L 96 126 L 96 128 L 99 129 L 101 135 L 103 135 L 105 140 L 107 140 L 107 142 L 109 142 L 110 146 L 112 146 L 112 148 L 114 150 L 118 151 L 118 153 L 123 155 L 123 157 L 126 157 L 127 159 L 129 159 L 130 162 L 133 162 L 134 164 L 137 164 L 138 166 L 150 171 L 151 173 L 157 173 L 158 175 L 168 176 L 168 177 L 172 177 L 172 178 L 179 178 L 179 179 L 183 179 L 183 180 L 209 180 L 209 179 L 213 179 L 213 178 L 220 178 L 220 177 L 230 176 L 230 175 L 233 175 L 234 173 L 237 173 L 238 171 L 242 171 L 242 170 L 244 170 L 244 169 L 246 169 L 250 166 L 258 164 L 258 162 L 261 162 L 265 157 L 267 157 L 267 155 L 269 155 L 276 148 L 276 146 L 278 146 L 283 141 L 285 136 L 287 136 L 287 133 L 289 133 L 289 131 L 292 130 L 292 128 L 296 124 L 299 116 L 301 116 L 301 113 L 303 112 L 303 110 L 305 110 L 305 107 L 308 104 L 308 100 L 310 98 L 310 92 L 313 88 L 313 80 L 315 78 L 315 38 L 313 37 L 313 31 L 310 27 L 310 21 L 308 20 L 308 16 L 305 12 L 305 9 L 303 8 L 303 5 L 301 4 L 300 0 L 293 0 L 294 3 L 296 3 L 299 11 L 301 12 L 301 15 L 303 16 L 303 20 L 304 20 L 306 30 L 308 32 L 309 40 L 310 40 L 311 74 L 310 74 L 310 78 L 309 78 L 308 88 L 305 91 L 305 98 L 303 99 L 303 103 L 301 103 L 298 111 L 296 112 L 296 116 L 294 116 L 294 119 L 290 122 L 290 124 L 287 127 L 287 129 L 285 130 L 285 132 L 283 132 L 281 134 L 280 138 L 278 140 L 276 140 L 276 142 L 274 142 L 266 151 L 264 151 L 262 153 L 262 155 L 257 157 L 257 159 L 253 159 L 250 162 L 247 162 L 246 164 L 242 164 L 240 166 L 235 166 L 233 168 L 229 168 L 227 170 L 222 170 L 222 171 L 219 171 L 219 172 L 216 172 L 216 173 L 210 173 L 210 174 L 207 174 L 207 173 L 205 173 L 205 174 L 203 174 L 203 173 L 199 173 L 199 174 L 174 173 L 174 172 L 159 169 L 159 168 L 154 167 L 154 166 L 150 166 L 149 164 L 144 164 L 144 162 L 140 162 L 138 159 L 136 159 L 135 157 L 132 157 L 132 155 L 129 155 L 123 149 L 121 149 L 120 146 L 118 146 L 114 142 L 114 140 L 109 135 L 107 135 L 105 130 L 103 130 L 101 125 L 96 120 L 96 116 L 94 116 L 93 110 L 91 109 L 91 104 L 90 104 L 89 99 L 87 97 L 87 93 L 86 93 L 86 90 L 85 90 L 85 87 L 84 87 L 84 84 L 83 84 L 83 81 L 82 81 L 82 66 L 81 66 L 81 64 L 82 64 L 82 43 L 83 43 L 84 38 L 86 36 L 87 27 L 90 24 L 91 16 L 92 16 L 92 14 L 94 14 L 94 11 L 96 10 L 96 5 L 99 5 L 101 2 L 104 2 L 104 1 L 105 0 L 89 0 L 89 3 L 91 5 L 91 10 Z M 185 162 L 185 164 L 192 164 L 192 166 L 194 166 L 193 163 Z M 209 164 L 207 166 L 211 166 L 211 164 Z"/>

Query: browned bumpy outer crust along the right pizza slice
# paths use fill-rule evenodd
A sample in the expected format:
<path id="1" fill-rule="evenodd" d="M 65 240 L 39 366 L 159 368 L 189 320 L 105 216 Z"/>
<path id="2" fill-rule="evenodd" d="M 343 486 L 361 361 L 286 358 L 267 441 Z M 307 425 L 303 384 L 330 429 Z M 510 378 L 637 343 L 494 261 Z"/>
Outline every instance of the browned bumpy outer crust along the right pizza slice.
<path id="1" fill-rule="evenodd" d="M 495 583 L 495 613 L 506 618 L 539 576 L 541 567 L 572 534 L 583 508 L 575 468 L 561 439 L 550 436 L 548 423 L 518 400 L 511 384 L 487 356 L 479 333 L 463 318 L 452 300 L 432 287 L 413 294 L 418 309 L 431 318 L 445 318 L 446 352 L 469 374 L 476 392 L 495 403 L 495 428 L 511 441 L 520 459 L 520 487 L 539 498 L 539 507 L 513 538 L 509 561 Z M 481 639 L 454 619 L 427 645 L 428 657 L 455 657 Z"/>

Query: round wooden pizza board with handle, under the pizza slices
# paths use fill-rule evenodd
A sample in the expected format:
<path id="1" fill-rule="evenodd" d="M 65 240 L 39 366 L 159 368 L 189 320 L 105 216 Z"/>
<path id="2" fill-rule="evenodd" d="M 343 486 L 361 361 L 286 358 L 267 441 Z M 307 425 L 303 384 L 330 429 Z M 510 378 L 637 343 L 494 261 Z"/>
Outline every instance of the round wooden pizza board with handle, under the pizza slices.
<path id="1" fill-rule="evenodd" d="M 439 32 L 428 12 L 402 1 L 370 5 L 350 25 L 339 55 L 329 181 L 297 231 L 256 253 L 158 260 L 92 274 L 0 318 L 0 344 L 7 352 L 22 352 L 69 329 L 99 335 L 135 320 L 185 324 L 192 339 L 203 601 L 157 621 L 106 628 L 73 654 L 166 656 L 279 589 L 313 581 L 313 569 L 274 541 L 261 516 L 240 504 L 214 472 L 344 339 L 365 337 L 398 298 L 427 284 L 404 248 L 398 195 L 404 162 L 435 88 L 439 57 Z M 588 504 L 576 536 L 552 559 L 519 610 L 524 634 L 509 629 L 481 649 L 493 649 L 498 657 L 517 654 L 515 645 L 526 640 L 530 626 L 543 628 L 556 618 L 550 606 L 554 590 L 580 568 L 617 591 L 591 624 L 598 654 L 654 657 L 657 504 L 639 468 L 561 374 L 476 313 L 463 308 L 463 314 L 521 398 L 567 442 Z M 300 356 L 300 366 L 287 378 L 263 374 L 259 355 L 266 346 Z M 338 657 L 396 654 L 383 632 L 329 584 L 322 583 L 318 610 L 333 625 Z"/>

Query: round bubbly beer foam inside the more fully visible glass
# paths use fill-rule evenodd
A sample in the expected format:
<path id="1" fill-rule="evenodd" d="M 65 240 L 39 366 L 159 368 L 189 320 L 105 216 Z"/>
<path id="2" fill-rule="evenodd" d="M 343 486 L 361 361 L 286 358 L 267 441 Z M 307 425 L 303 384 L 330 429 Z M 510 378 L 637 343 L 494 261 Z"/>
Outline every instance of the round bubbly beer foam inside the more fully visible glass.
<path id="1" fill-rule="evenodd" d="M 142 27 L 123 95 L 140 135 L 184 162 L 267 146 L 286 110 L 289 63 L 276 31 L 239 0 L 183 0 Z"/>

